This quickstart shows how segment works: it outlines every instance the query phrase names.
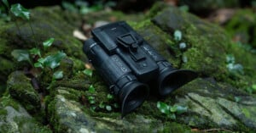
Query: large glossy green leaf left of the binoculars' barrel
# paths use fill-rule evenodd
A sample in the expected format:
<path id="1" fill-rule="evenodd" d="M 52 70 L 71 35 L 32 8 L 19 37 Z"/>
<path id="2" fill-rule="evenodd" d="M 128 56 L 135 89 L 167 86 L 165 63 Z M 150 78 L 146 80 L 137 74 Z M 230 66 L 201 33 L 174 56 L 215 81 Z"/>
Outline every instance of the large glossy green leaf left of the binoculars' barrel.
<path id="1" fill-rule="evenodd" d="M 51 69 L 55 69 L 60 65 L 61 59 L 66 57 L 66 53 L 58 52 L 55 55 L 49 55 L 44 58 L 44 66 L 47 66 Z"/>

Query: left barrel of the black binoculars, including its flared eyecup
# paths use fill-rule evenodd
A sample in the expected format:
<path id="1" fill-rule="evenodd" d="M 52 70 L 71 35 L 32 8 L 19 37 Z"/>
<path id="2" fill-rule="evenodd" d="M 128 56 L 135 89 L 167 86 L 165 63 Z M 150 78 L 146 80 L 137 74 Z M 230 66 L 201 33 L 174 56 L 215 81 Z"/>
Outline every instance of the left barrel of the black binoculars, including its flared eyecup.
<path id="1" fill-rule="evenodd" d="M 93 38 L 84 43 L 84 53 L 106 80 L 110 91 L 122 102 L 122 114 L 128 114 L 148 97 L 148 86 L 137 81 L 131 69 L 117 55 L 109 56 Z"/>

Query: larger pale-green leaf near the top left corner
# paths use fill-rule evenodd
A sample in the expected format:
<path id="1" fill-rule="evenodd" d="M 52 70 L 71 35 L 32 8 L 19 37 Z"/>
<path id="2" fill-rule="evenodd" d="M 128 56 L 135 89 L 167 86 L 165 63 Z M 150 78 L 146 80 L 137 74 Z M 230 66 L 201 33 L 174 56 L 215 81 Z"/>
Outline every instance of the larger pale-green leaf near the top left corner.
<path id="1" fill-rule="evenodd" d="M 11 5 L 10 11 L 16 16 L 22 19 L 30 19 L 30 12 L 24 8 L 20 3 Z"/>

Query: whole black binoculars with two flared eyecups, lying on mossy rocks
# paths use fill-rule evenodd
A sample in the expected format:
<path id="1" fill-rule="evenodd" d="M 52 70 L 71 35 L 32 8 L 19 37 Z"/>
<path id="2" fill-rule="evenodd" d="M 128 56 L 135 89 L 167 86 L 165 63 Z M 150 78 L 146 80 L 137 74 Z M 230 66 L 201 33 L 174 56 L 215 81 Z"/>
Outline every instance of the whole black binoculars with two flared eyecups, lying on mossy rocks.
<path id="1" fill-rule="evenodd" d="M 109 90 L 119 97 L 122 116 L 140 106 L 156 91 L 166 96 L 196 78 L 191 70 L 174 69 L 142 36 L 124 21 L 91 30 L 84 53 Z"/>

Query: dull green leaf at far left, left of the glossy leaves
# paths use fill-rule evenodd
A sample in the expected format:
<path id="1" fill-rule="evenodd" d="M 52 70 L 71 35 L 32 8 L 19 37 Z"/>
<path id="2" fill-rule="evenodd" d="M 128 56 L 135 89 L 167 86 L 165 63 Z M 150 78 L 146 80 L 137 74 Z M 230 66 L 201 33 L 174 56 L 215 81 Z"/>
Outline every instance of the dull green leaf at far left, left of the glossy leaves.
<path id="1" fill-rule="evenodd" d="M 15 49 L 14 51 L 12 51 L 11 55 L 18 61 L 28 61 L 31 62 L 30 58 L 29 58 L 29 53 L 27 50 L 23 50 L 23 49 Z"/>

